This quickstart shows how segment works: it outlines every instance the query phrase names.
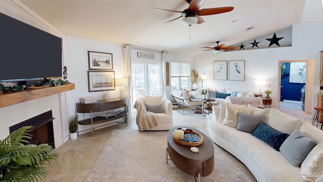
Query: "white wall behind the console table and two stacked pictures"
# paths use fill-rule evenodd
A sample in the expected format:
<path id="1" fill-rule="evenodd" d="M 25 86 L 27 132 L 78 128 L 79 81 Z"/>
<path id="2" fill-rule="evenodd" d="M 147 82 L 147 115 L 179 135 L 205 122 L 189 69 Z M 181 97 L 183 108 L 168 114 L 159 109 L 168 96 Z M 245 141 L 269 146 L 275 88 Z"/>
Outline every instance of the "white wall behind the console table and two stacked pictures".
<path id="1" fill-rule="evenodd" d="M 68 80 L 75 83 L 75 89 L 67 93 L 68 117 L 75 114 L 75 103 L 80 102 L 81 97 L 96 97 L 101 99 L 103 92 L 109 92 L 111 98 L 119 97 L 119 88 L 99 92 L 88 92 L 88 51 L 113 54 L 113 70 L 115 78 L 126 77 L 123 61 L 122 45 L 85 39 L 74 36 L 65 36 L 65 61 L 68 70 Z M 89 118 L 88 114 L 80 114 L 80 119 Z M 79 125 L 79 131 L 89 129 L 90 126 Z"/>

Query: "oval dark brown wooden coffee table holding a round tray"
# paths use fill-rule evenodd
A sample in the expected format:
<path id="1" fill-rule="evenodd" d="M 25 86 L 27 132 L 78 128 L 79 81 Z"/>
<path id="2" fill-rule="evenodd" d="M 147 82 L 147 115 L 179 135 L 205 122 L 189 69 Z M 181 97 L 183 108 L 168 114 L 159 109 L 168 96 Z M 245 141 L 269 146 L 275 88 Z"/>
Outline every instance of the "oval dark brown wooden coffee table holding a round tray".
<path id="1" fill-rule="evenodd" d="M 192 129 L 195 132 L 200 133 L 203 136 L 203 143 L 198 148 L 198 153 L 191 152 L 191 147 L 176 143 L 173 140 L 173 132 L 177 128 Z M 166 163 L 168 163 L 168 155 L 172 162 L 183 172 L 198 177 L 207 176 L 213 172 L 214 169 L 214 148 L 212 141 L 203 132 L 187 127 L 187 126 L 176 126 L 169 130 L 167 134 L 167 148 L 166 148 Z"/>

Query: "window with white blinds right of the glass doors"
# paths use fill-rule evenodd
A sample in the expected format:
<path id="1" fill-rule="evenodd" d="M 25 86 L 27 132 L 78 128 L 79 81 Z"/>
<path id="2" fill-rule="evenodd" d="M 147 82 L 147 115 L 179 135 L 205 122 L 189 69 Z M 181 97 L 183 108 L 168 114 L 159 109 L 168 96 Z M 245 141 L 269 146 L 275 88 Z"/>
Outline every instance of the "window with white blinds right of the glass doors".
<path id="1" fill-rule="evenodd" d="M 188 89 L 191 85 L 191 64 L 171 62 L 172 88 Z"/>

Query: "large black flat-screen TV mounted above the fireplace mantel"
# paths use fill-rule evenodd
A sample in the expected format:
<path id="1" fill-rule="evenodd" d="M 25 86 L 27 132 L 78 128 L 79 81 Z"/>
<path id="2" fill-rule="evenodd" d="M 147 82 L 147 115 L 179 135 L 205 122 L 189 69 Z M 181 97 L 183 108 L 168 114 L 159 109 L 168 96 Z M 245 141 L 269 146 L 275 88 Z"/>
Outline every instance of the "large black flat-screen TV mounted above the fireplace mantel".
<path id="1" fill-rule="evenodd" d="M 62 38 L 0 13 L 0 82 L 62 77 Z"/>

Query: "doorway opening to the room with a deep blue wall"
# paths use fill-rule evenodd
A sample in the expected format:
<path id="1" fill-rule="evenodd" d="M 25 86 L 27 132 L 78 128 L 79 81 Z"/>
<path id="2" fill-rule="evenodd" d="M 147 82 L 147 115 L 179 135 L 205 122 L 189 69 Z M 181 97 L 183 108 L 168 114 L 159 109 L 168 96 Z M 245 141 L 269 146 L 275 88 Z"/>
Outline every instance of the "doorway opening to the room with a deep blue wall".
<path id="1" fill-rule="evenodd" d="M 311 113 L 314 60 L 279 61 L 279 108 Z"/>

